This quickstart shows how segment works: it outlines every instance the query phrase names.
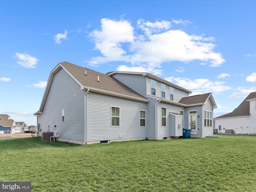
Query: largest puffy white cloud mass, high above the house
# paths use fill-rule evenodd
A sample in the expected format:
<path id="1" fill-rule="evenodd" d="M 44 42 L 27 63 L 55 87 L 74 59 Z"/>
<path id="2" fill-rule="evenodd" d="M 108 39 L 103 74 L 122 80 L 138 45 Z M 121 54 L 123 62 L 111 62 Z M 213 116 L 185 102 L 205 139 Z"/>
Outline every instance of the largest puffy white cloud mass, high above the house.
<path id="1" fill-rule="evenodd" d="M 168 30 L 170 26 L 168 21 L 144 22 L 140 19 L 138 28 L 146 35 L 139 35 L 127 20 L 102 18 L 101 29 L 90 33 L 95 50 L 100 50 L 102 56 L 92 57 L 88 63 L 97 66 L 122 61 L 130 63 L 130 67 L 155 70 L 161 68 L 163 62 L 200 60 L 204 64 L 210 62 L 212 67 L 225 62 L 220 53 L 214 52 L 213 37 Z"/>

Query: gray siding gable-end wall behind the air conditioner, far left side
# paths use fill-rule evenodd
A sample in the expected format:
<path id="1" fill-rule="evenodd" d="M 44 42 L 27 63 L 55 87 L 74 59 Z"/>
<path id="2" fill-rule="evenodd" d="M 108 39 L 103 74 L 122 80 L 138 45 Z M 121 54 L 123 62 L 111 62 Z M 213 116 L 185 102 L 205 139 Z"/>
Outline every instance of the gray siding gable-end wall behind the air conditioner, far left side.
<path id="1" fill-rule="evenodd" d="M 64 69 L 58 71 L 42 114 L 38 116 L 42 132 L 48 131 L 49 125 L 49 131 L 56 130 L 59 138 L 84 141 L 84 94 L 80 85 Z M 65 110 L 64 122 L 62 109 Z"/>

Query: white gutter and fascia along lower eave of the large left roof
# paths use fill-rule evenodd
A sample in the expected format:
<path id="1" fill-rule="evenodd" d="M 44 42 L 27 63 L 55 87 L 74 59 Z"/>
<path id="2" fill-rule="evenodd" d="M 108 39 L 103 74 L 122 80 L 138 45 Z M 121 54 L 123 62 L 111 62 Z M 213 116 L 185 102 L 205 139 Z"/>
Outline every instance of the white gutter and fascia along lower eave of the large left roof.
<path id="1" fill-rule="evenodd" d="M 115 92 L 92 88 L 92 87 L 87 87 L 87 86 L 81 87 L 81 90 L 84 90 L 84 91 L 88 90 L 88 89 L 91 92 L 102 93 L 102 94 L 106 94 L 106 95 L 111 95 L 111 96 L 116 96 L 116 97 L 121 97 L 121 98 L 126 98 L 126 99 L 132 99 L 132 100 L 141 101 L 141 102 L 149 102 L 148 99 L 138 98 L 138 97 L 134 97 L 134 96 L 124 95 L 124 94 L 120 94 L 120 93 L 115 93 Z"/>

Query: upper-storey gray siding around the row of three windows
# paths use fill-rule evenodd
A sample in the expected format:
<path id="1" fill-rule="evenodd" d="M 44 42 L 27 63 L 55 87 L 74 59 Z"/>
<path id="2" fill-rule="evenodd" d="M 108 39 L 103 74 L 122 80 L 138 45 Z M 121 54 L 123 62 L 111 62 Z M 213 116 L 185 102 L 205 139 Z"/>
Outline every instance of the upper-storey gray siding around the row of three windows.
<path id="1" fill-rule="evenodd" d="M 170 100 L 170 86 L 166 84 L 165 86 L 166 86 L 165 99 Z M 150 78 L 147 78 L 147 95 L 148 96 L 151 95 L 151 79 Z M 158 81 L 156 81 L 156 97 L 161 98 L 161 82 L 158 82 Z M 173 101 L 179 102 L 183 97 L 188 97 L 188 93 L 174 88 Z"/>

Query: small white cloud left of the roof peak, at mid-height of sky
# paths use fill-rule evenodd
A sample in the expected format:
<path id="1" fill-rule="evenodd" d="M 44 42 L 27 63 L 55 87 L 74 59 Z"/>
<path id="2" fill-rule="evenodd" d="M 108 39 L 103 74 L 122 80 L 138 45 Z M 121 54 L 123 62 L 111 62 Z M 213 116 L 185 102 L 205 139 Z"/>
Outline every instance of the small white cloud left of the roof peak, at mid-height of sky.
<path id="1" fill-rule="evenodd" d="M 36 57 L 32 57 L 29 54 L 22 54 L 16 52 L 16 57 L 19 59 L 17 63 L 22 67 L 26 68 L 36 68 L 36 64 L 38 63 L 39 59 Z"/>

